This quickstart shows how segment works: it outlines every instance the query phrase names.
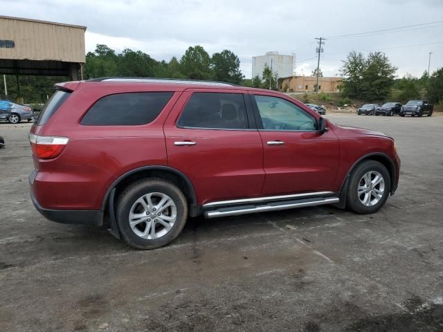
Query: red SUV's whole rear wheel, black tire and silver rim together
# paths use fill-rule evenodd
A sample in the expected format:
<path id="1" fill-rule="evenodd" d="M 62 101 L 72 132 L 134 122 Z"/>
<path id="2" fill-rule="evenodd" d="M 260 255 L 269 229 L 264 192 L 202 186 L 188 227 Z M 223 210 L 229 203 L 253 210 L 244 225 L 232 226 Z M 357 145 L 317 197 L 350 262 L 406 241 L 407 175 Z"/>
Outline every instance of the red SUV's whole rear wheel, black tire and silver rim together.
<path id="1" fill-rule="evenodd" d="M 136 181 L 118 198 L 118 227 L 123 239 L 136 249 L 166 246 L 183 230 L 187 216 L 181 190 L 160 178 Z"/>

